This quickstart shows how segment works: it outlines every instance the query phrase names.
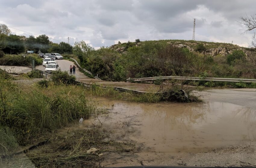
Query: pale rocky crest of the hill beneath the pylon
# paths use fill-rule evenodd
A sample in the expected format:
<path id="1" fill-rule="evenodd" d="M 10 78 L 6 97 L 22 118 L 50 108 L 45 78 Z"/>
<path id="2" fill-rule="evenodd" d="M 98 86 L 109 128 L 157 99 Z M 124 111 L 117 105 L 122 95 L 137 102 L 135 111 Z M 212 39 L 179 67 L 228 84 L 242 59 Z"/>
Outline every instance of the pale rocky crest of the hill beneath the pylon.
<path id="1" fill-rule="evenodd" d="M 136 42 L 127 42 L 122 44 L 114 44 L 110 46 L 111 49 L 116 50 L 117 52 L 123 53 L 131 46 L 142 46 L 145 42 L 155 42 L 161 44 L 171 44 L 179 48 L 187 48 L 189 51 L 197 51 L 203 55 L 228 55 L 233 52 L 235 49 L 241 49 L 243 52 L 248 54 L 249 52 L 256 53 L 255 49 L 240 47 L 238 45 L 230 44 L 230 43 L 214 43 L 214 42 L 206 42 L 206 41 L 186 41 L 186 40 L 159 40 L 159 41 L 142 41 L 139 43 Z M 198 45 L 203 46 L 202 50 L 197 50 Z"/>

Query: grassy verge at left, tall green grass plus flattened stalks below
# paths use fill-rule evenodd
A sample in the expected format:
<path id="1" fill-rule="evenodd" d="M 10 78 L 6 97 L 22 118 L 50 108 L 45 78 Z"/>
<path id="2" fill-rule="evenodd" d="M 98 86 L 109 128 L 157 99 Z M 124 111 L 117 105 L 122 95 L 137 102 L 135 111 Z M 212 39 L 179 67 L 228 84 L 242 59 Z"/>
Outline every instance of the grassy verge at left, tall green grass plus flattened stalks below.
<path id="1" fill-rule="evenodd" d="M 2 161 L 13 156 L 18 146 L 40 144 L 43 146 L 36 151 L 24 151 L 36 167 L 97 167 L 96 162 L 102 159 L 98 154 L 133 149 L 132 143 L 102 141 L 108 137 L 102 129 L 72 131 L 67 128 L 81 117 L 87 119 L 99 111 L 88 100 L 83 87 L 71 85 L 74 78 L 63 79 L 69 75 L 61 74 L 51 82 L 43 80 L 37 85 L 22 87 L 1 71 Z M 63 130 L 59 131 L 60 128 Z M 93 147 L 99 151 L 86 153 Z"/>

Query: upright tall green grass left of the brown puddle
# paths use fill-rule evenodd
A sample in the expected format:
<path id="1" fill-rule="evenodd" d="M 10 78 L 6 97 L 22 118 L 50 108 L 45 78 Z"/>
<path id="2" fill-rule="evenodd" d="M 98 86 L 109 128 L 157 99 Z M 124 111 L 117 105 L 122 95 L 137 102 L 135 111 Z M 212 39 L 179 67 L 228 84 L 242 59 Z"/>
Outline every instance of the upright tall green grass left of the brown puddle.
<path id="1" fill-rule="evenodd" d="M 40 132 L 64 127 L 81 117 L 87 119 L 96 110 L 79 86 L 31 86 L 22 90 L 13 83 L 3 83 L 0 87 L 7 119 L 1 104 L 1 124 L 6 123 L 6 120 L 10 123 L 19 143 L 24 137 L 36 137 Z"/>

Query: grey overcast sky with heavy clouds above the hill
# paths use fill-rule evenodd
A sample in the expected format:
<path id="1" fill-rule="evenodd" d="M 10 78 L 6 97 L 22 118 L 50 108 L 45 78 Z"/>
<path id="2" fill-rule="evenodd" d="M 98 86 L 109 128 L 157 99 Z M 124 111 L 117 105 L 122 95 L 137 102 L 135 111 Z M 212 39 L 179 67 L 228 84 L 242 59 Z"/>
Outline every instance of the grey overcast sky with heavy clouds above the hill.
<path id="1" fill-rule="evenodd" d="M 242 34 L 237 21 L 255 7 L 255 0 L 0 0 L 0 23 L 16 35 L 70 37 L 97 48 L 138 38 L 191 40 L 195 18 L 195 40 L 248 46 L 253 32 Z"/>

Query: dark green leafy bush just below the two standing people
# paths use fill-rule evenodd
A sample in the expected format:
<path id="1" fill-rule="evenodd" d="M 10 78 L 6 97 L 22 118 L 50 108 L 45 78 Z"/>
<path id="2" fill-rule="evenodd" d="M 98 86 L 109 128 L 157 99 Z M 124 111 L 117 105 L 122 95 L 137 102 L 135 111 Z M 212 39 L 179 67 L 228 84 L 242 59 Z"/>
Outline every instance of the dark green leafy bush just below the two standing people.
<path id="1" fill-rule="evenodd" d="M 54 82 L 55 84 L 60 84 L 60 83 L 64 83 L 64 84 L 75 84 L 76 83 L 76 76 L 73 75 L 69 75 L 67 73 L 67 71 L 53 71 L 52 75 L 51 75 L 51 79 L 52 82 Z"/>

